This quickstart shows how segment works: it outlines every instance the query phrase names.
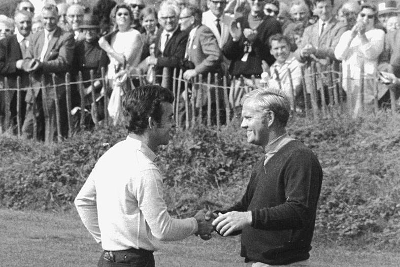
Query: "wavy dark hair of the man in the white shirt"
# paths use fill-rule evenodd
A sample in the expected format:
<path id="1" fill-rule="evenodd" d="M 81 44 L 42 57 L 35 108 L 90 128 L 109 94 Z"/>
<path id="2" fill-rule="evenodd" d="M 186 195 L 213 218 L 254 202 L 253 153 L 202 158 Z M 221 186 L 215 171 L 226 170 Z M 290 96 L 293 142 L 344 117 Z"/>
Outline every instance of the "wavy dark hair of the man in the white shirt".
<path id="1" fill-rule="evenodd" d="M 142 135 L 150 117 L 161 121 L 161 103 L 174 102 L 174 94 L 159 85 L 144 85 L 128 91 L 122 102 L 125 127 L 128 132 Z"/>

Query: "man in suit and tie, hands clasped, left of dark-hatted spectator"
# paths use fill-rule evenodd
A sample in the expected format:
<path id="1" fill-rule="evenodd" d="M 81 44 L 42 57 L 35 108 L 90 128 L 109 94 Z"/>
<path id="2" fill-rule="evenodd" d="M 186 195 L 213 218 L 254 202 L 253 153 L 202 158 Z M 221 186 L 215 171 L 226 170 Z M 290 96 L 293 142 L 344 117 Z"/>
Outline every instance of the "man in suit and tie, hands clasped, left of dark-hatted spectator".
<path id="1" fill-rule="evenodd" d="M 57 26 L 58 12 L 55 5 L 45 5 L 41 12 L 44 30 L 36 32 L 29 37 L 29 49 L 24 56 L 23 68 L 32 74 L 35 89 L 28 90 L 25 97 L 26 116 L 22 126 L 23 135 L 31 138 L 34 134 L 34 120 L 37 120 L 38 138 L 49 142 L 55 132 L 55 103 L 54 91 L 41 89 L 41 77 L 45 77 L 45 85 L 52 87 L 52 73 L 56 74 L 56 84 L 65 81 L 65 73 L 71 71 L 74 55 L 74 35 Z M 57 87 L 59 99 L 64 100 L 65 86 Z M 42 94 L 43 100 L 42 101 Z M 36 107 L 33 106 L 34 97 Z M 66 114 L 65 103 L 60 102 L 61 124 L 65 127 L 64 117 Z M 48 111 L 48 121 L 44 125 L 44 109 Z M 64 134 L 58 132 L 58 135 Z"/>

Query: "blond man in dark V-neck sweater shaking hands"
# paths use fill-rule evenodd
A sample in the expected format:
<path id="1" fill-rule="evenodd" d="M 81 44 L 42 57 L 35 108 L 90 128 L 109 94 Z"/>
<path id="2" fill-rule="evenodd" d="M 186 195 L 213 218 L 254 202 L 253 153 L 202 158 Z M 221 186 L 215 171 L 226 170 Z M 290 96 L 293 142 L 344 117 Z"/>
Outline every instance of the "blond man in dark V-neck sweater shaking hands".
<path id="1" fill-rule="evenodd" d="M 241 256 L 252 267 L 310 263 L 322 183 L 315 154 L 288 136 L 290 104 L 272 87 L 242 98 L 241 127 L 248 143 L 264 148 L 265 158 L 254 166 L 242 200 L 213 214 L 220 235 L 242 234 Z"/>

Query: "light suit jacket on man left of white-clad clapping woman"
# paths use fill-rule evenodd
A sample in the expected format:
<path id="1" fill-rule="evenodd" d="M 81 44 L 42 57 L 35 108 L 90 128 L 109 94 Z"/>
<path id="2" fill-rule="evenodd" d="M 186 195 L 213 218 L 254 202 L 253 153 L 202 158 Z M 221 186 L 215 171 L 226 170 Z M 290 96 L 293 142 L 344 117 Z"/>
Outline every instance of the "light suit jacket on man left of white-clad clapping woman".
<path id="1" fill-rule="evenodd" d="M 334 68 L 339 71 L 339 61 L 335 58 L 335 47 L 339 43 L 339 39 L 342 34 L 346 31 L 346 25 L 339 22 L 336 18 L 332 18 L 327 25 L 325 25 L 322 35 L 318 37 L 318 22 L 306 27 L 304 29 L 302 42 L 298 46 L 297 50 L 294 52 L 294 56 L 299 62 L 306 63 L 305 70 L 305 80 L 307 85 L 307 90 L 309 91 L 312 87 L 312 79 L 310 77 L 311 62 L 314 60 L 312 57 L 302 57 L 300 56 L 300 51 L 307 45 L 312 44 L 317 47 L 317 52 L 315 57 L 321 62 L 321 70 L 329 70 L 330 65 L 333 64 Z M 326 59 L 329 59 L 328 62 Z"/>

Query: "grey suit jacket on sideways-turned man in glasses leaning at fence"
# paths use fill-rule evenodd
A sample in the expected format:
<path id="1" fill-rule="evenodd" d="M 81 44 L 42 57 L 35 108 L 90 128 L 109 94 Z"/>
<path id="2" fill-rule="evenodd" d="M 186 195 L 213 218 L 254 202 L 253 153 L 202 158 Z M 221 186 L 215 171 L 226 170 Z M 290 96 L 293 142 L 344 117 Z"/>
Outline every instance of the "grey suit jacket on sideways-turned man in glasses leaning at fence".
<path id="1" fill-rule="evenodd" d="M 190 47 L 187 44 L 187 53 L 198 74 L 221 72 L 222 51 L 209 27 L 201 25 L 196 29 Z"/>

